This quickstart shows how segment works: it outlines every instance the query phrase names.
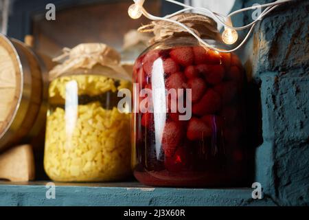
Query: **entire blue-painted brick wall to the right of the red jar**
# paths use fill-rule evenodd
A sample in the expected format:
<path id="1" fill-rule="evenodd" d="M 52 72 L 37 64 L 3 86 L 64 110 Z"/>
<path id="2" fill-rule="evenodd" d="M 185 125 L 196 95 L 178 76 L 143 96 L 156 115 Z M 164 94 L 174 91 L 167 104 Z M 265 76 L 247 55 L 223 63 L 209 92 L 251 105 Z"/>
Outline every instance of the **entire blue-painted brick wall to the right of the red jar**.
<path id="1" fill-rule="evenodd" d="M 258 1 L 265 2 L 271 1 Z M 255 27 L 243 51 L 251 83 L 260 86 L 263 141 L 255 180 L 278 205 L 309 205 L 308 14 L 306 0 L 280 6 Z"/>

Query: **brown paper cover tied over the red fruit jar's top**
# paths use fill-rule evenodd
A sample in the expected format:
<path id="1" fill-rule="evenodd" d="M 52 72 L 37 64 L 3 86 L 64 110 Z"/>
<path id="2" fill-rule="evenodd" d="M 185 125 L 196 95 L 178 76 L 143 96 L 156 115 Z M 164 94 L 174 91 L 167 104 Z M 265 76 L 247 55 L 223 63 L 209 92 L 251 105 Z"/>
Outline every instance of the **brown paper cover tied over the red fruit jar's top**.
<path id="1" fill-rule="evenodd" d="M 170 19 L 179 21 L 203 39 L 212 39 L 221 42 L 220 32 L 214 19 L 203 14 L 181 13 Z M 150 39 L 151 43 L 156 43 L 171 36 L 190 36 L 187 30 L 169 21 L 152 21 L 148 25 L 143 25 L 139 32 L 153 32 L 155 36 Z"/>

